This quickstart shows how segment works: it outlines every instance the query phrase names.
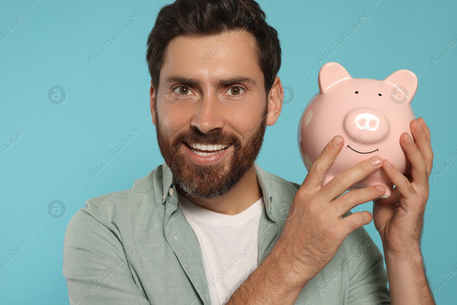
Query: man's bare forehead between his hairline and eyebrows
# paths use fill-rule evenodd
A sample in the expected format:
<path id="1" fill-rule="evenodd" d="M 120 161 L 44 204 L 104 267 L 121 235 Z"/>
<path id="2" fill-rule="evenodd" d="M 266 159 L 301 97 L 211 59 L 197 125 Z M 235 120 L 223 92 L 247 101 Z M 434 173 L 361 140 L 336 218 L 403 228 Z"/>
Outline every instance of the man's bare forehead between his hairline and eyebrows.
<path id="1" fill-rule="evenodd" d="M 238 78 L 255 85 L 262 71 L 258 64 L 255 37 L 247 31 L 212 36 L 178 35 L 165 52 L 162 81 L 192 76 L 218 83 Z M 166 80 L 165 80 L 166 79 Z M 182 82 L 182 81 L 180 81 Z M 187 81 L 191 84 L 191 81 Z"/>

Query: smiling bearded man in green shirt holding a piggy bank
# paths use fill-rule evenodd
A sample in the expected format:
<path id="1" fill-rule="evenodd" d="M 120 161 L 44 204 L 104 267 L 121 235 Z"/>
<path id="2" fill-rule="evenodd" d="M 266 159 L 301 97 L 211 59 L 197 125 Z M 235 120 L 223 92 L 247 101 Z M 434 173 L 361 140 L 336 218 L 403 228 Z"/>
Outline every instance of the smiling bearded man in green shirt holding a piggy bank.
<path id="1" fill-rule="evenodd" d="M 70 304 L 435 304 L 420 252 L 433 160 L 422 118 L 410 124 L 415 142 L 399 139 L 408 178 L 372 156 L 321 187 L 344 146 L 336 135 L 299 185 L 255 163 L 283 94 L 277 32 L 260 5 L 166 5 L 146 58 L 165 163 L 70 220 Z M 362 227 L 372 214 L 350 210 L 385 188 L 345 193 L 379 168 L 396 185 L 373 204 L 384 257 Z"/>

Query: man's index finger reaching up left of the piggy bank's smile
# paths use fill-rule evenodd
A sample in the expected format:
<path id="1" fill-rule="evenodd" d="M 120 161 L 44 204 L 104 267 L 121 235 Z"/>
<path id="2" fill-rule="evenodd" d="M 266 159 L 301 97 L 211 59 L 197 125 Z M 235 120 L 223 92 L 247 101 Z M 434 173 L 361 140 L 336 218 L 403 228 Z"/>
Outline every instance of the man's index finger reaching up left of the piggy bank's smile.
<path id="1" fill-rule="evenodd" d="M 309 169 L 308 175 L 303 181 L 298 192 L 303 193 L 304 191 L 312 188 L 318 190 L 322 186 L 325 175 L 329 171 L 332 162 L 336 156 L 340 153 L 343 147 L 344 139 L 342 136 L 337 135 L 325 145 L 322 153 L 317 157 L 316 161 L 313 162 Z"/>

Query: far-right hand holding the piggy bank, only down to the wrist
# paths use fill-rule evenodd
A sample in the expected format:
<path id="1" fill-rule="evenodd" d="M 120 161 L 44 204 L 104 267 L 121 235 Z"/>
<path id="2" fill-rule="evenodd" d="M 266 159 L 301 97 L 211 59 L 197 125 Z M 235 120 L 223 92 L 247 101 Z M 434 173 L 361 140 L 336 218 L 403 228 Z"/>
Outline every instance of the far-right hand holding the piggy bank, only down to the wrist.
<path id="1" fill-rule="evenodd" d="M 384 252 L 393 256 L 420 253 L 425 204 L 429 198 L 429 176 L 433 163 L 430 130 L 423 118 L 412 120 L 411 133 L 400 136 L 400 144 L 411 163 L 404 175 L 387 159 L 382 169 L 395 184 L 392 196 L 373 202 L 374 225 L 383 241 Z M 410 140 L 409 140 L 410 139 Z"/>

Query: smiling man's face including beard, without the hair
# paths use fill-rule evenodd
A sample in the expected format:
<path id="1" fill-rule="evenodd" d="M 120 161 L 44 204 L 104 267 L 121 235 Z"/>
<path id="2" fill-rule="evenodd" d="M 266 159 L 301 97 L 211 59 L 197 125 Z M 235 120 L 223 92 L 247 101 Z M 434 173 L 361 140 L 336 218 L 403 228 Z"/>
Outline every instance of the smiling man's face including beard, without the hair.
<path id="1" fill-rule="evenodd" d="M 154 93 L 159 149 L 178 187 L 207 199 L 231 190 L 271 120 L 252 34 L 174 37 Z"/>

